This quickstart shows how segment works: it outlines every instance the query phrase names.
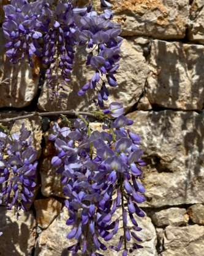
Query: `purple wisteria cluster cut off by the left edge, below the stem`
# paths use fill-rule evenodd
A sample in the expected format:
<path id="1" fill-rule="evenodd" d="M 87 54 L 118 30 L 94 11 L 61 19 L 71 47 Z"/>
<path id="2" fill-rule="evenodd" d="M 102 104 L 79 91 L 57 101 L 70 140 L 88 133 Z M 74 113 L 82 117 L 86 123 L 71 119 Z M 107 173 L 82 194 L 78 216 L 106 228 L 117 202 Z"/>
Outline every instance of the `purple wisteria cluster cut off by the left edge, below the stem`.
<path id="1" fill-rule="evenodd" d="M 0 204 L 28 210 L 36 186 L 37 152 L 25 125 L 12 135 L 0 132 Z"/>

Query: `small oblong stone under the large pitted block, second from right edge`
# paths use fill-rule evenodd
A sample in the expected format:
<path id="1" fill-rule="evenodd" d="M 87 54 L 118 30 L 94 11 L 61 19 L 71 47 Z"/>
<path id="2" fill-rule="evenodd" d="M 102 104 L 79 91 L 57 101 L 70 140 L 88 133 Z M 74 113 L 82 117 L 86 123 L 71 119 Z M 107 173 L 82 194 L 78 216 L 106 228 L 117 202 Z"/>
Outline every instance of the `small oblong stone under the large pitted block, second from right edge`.
<path id="1" fill-rule="evenodd" d="M 186 214 L 186 209 L 174 207 L 154 212 L 151 219 L 154 225 L 159 227 L 181 226 L 187 224 L 189 216 Z"/>

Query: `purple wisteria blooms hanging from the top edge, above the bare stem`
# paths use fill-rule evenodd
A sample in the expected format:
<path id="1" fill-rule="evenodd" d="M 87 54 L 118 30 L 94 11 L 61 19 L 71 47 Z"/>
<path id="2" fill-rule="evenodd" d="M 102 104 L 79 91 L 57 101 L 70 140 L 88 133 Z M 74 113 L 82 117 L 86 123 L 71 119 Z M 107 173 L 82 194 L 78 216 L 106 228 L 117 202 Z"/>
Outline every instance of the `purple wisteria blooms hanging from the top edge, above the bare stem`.
<path id="1" fill-rule="evenodd" d="M 110 7 L 108 1 L 101 1 L 103 7 Z M 107 85 L 117 86 L 115 73 L 119 68 L 119 53 L 122 38 L 118 24 L 111 22 L 113 14 L 105 9 L 97 14 L 89 4 L 78 8 L 72 1 L 58 1 L 56 6 L 49 1 L 12 0 L 4 7 L 6 20 L 2 25 L 8 40 L 6 54 L 12 63 L 26 58 L 31 66 L 34 58 L 41 60 L 46 68 L 50 87 L 70 81 L 77 46 L 87 52 L 88 66 L 94 70 L 79 95 L 93 89 L 94 101 L 100 107 L 108 98 Z M 97 98 L 97 100 L 96 100 Z"/>

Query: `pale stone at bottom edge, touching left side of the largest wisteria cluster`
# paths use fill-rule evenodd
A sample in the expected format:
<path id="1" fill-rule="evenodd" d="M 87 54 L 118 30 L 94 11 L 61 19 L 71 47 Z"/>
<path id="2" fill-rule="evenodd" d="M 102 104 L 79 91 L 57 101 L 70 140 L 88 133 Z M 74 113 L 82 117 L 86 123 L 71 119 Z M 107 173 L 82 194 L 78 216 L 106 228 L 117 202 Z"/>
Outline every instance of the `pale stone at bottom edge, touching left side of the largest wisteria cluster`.
<path id="1" fill-rule="evenodd" d="M 55 218 L 54 222 L 42 231 L 36 243 L 35 256 L 66 256 L 69 255 L 67 247 L 74 244 L 66 238 L 70 231 L 70 226 L 66 225 L 68 212 L 66 207 L 62 209 L 61 214 Z"/>

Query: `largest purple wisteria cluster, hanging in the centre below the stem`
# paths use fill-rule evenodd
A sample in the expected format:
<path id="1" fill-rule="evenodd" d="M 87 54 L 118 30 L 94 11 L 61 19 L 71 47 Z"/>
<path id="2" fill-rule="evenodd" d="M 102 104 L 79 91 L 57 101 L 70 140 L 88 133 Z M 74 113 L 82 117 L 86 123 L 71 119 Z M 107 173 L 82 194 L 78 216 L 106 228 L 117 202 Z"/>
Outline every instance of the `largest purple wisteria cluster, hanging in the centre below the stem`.
<path id="1" fill-rule="evenodd" d="M 119 104 L 110 109 L 117 116 L 121 112 Z M 55 143 L 57 154 L 51 164 L 61 174 L 63 191 L 69 198 L 67 225 L 72 225 L 72 230 L 67 238 L 77 239 L 69 247 L 72 255 L 78 250 L 91 256 L 103 255 L 100 251 L 107 250 L 107 241 L 118 233 L 120 225 L 123 235 L 110 248 L 122 250 L 126 256 L 128 251 L 141 247 L 137 234 L 141 228 L 135 216 L 145 216 L 138 206 L 145 201 L 145 188 L 139 181 L 145 162 L 141 158 L 140 137 L 126 128 L 132 123 L 122 114 L 101 132 L 92 132 L 81 119 L 73 127 L 53 125 L 50 140 Z M 122 224 L 116 218 L 117 209 L 121 209 Z M 130 239 L 132 247 L 127 247 Z"/>

